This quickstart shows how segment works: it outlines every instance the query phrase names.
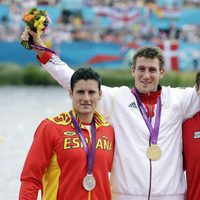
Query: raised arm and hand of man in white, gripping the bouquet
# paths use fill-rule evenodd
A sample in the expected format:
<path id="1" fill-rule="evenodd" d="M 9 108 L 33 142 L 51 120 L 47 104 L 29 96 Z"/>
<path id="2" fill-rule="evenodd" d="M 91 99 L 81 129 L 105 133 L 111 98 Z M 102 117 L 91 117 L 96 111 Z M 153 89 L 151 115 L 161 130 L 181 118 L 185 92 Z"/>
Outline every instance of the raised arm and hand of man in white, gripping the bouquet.
<path id="1" fill-rule="evenodd" d="M 22 39 L 28 40 L 28 35 L 32 35 L 34 44 L 38 46 L 44 46 L 41 37 L 26 28 Z M 37 58 L 39 62 L 42 64 L 43 68 L 67 91 L 70 89 L 70 80 L 71 76 L 74 73 L 74 70 L 71 69 L 66 63 L 60 60 L 57 55 L 52 53 L 43 52 L 37 49 L 34 49 L 37 53 Z M 103 98 L 99 104 L 99 112 L 104 115 L 104 117 L 109 120 L 110 115 L 112 114 L 113 105 L 114 105 L 114 97 L 117 95 L 118 89 L 102 87 L 103 90 Z"/>

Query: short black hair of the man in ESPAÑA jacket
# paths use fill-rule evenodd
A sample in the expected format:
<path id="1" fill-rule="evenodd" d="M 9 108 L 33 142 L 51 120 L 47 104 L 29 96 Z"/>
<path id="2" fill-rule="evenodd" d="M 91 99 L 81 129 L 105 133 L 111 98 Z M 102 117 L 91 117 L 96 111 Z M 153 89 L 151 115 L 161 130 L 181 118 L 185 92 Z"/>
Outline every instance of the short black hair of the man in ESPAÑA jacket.
<path id="1" fill-rule="evenodd" d="M 70 81 L 72 91 L 79 80 L 95 80 L 98 83 L 99 90 L 101 90 L 101 77 L 91 67 L 80 67 L 73 73 Z"/>

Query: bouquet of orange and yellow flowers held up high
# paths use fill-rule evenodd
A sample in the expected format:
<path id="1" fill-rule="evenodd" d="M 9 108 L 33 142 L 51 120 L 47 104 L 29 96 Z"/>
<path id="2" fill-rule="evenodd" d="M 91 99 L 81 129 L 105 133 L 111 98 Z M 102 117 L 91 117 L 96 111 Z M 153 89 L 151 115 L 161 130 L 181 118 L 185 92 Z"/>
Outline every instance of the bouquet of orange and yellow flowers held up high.
<path id="1" fill-rule="evenodd" d="M 25 22 L 25 24 L 30 28 L 30 30 L 34 31 L 37 34 L 41 34 L 44 32 L 49 23 L 50 18 L 48 16 L 47 11 L 44 10 L 38 10 L 37 8 L 32 8 L 28 12 L 25 12 L 22 16 L 22 21 Z M 21 45 L 24 46 L 26 49 L 30 50 L 32 49 L 33 44 L 33 38 L 31 35 L 29 35 L 29 40 L 23 39 Z"/>

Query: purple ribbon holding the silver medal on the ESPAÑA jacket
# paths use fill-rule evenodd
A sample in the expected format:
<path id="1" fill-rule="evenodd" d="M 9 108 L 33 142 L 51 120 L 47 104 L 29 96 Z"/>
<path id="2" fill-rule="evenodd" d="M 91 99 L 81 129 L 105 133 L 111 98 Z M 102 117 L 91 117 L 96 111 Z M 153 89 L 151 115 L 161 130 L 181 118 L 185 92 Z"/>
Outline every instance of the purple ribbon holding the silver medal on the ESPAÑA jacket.
<path id="1" fill-rule="evenodd" d="M 75 131 L 79 136 L 79 139 L 83 143 L 83 147 L 86 153 L 87 157 L 87 173 L 92 174 L 93 172 L 93 167 L 94 167 L 94 158 L 95 158 L 95 152 L 96 152 L 96 127 L 95 127 L 95 121 L 94 119 L 92 120 L 91 123 L 91 135 L 92 135 L 92 142 L 91 142 L 91 148 L 90 151 L 88 149 L 87 142 L 85 140 L 85 137 L 83 136 L 82 130 L 73 116 L 72 112 L 70 112 L 71 118 L 72 118 L 72 123 L 74 125 Z"/>

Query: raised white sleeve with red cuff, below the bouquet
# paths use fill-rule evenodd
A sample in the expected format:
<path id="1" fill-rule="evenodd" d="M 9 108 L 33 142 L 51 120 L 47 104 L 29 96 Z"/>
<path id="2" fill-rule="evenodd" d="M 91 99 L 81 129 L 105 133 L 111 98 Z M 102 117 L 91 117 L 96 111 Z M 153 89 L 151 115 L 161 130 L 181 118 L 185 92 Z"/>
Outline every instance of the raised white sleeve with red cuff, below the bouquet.
<path id="1" fill-rule="evenodd" d="M 60 58 L 52 54 L 49 58 L 49 54 L 44 54 L 39 60 L 43 65 L 43 68 L 67 91 L 70 89 L 71 76 L 74 70 L 70 68 L 66 63 L 60 60 Z M 48 60 L 49 58 L 49 60 Z M 48 60 L 48 61 L 47 61 Z"/>

